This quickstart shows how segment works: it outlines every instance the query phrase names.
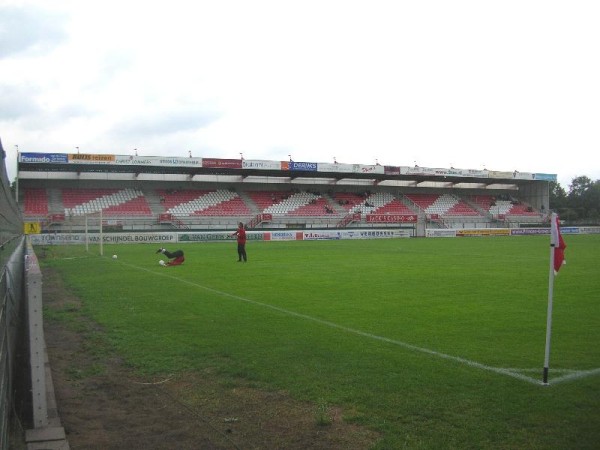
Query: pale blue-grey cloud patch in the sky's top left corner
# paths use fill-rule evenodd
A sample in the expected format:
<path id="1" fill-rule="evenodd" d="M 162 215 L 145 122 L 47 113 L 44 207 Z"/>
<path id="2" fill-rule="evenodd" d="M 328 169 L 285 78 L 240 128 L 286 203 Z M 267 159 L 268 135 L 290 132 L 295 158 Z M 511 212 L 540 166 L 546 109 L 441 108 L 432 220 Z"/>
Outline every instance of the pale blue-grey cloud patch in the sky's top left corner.
<path id="1" fill-rule="evenodd" d="M 42 53 L 64 42 L 66 16 L 26 7 L 0 6 L 0 59 L 15 54 Z"/>

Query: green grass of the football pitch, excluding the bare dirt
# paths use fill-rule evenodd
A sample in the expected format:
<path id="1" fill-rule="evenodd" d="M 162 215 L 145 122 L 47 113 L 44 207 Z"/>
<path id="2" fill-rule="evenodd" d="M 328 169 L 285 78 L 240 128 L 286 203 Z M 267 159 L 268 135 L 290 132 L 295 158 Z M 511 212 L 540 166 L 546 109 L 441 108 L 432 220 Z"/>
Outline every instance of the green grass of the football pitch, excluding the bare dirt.
<path id="1" fill-rule="evenodd" d="M 140 373 L 210 368 L 351 411 L 377 448 L 597 448 L 600 236 L 565 236 L 550 386 L 541 380 L 549 239 L 394 239 L 47 249 L 116 351 Z M 404 344 L 432 353 L 407 348 Z"/>

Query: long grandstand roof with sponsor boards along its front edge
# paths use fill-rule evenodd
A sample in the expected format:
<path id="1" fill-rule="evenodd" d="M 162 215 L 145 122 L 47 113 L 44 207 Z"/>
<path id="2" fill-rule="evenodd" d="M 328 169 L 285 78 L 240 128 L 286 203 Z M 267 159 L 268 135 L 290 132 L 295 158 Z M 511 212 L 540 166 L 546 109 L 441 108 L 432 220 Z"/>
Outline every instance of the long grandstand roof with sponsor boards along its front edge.
<path id="1" fill-rule="evenodd" d="M 18 177 L 93 179 L 103 173 L 115 179 L 156 179 L 180 175 L 190 181 L 324 184 L 364 186 L 407 186 L 507 189 L 539 181 L 556 181 L 556 175 L 501 172 L 487 169 L 445 169 L 295 161 L 266 161 L 220 158 L 183 158 L 107 154 L 21 153 Z M 159 179 L 162 179 L 159 177 Z"/>

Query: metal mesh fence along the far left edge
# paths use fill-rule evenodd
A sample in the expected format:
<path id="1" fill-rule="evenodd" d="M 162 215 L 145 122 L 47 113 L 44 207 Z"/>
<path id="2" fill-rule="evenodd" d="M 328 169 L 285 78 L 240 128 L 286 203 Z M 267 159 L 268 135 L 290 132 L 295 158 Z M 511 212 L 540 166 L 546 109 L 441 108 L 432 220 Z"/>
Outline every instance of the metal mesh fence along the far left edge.
<path id="1" fill-rule="evenodd" d="M 9 447 L 19 353 L 27 336 L 24 308 L 23 222 L 6 173 L 0 141 L 0 448 Z"/>

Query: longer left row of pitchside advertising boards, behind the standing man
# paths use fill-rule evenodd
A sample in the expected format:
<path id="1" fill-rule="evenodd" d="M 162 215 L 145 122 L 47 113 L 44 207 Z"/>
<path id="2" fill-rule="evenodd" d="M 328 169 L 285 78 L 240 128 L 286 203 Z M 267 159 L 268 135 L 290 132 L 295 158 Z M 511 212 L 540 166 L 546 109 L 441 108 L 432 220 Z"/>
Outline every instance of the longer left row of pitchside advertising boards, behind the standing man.
<path id="1" fill-rule="evenodd" d="M 166 233 L 56 233 L 30 234 L 33 245 L 68 244 L 158 244 L 233 241 L 233 231 L 214 232 L 166 232 Z M 248 231 L 249 241 L 317 241 L 339 239 L 393 239 L 409 238 L 412 230 L 285 230 L 285 231 Z"/>

